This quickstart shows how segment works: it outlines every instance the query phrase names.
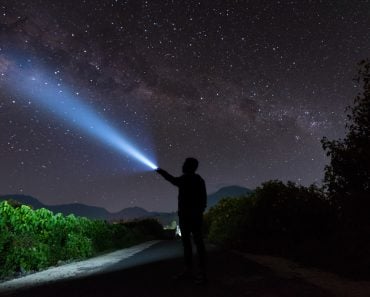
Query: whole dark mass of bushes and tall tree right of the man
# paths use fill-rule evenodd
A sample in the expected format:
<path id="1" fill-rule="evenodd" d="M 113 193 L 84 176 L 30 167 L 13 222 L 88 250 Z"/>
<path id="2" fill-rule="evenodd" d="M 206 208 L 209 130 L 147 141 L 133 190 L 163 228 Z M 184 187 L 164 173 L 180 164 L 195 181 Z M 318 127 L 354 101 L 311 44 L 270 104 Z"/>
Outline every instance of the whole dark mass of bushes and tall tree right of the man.
<path id="1" fill-rule="evenodd" d="M 351 276 L 370 274 L 370 61 L 348 107 L 344 139 L 322 139 L 330 158 L 322 188 L 268 181 L 205 215 L 208 238 L 226 247 L 281 255 Z"/>

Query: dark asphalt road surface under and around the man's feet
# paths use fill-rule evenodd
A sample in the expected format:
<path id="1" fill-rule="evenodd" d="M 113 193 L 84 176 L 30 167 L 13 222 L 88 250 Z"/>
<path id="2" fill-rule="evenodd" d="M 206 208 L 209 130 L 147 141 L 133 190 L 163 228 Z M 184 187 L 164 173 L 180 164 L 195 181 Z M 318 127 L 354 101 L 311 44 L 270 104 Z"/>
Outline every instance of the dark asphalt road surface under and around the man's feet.
<path id="1" fill-rule="evenodd" d="M 180 251 L 179 242 L 161 242 L 122 261 L 114 267 L 116 271 L 60 281 L 7 296 L 331 296 L 301 279 L 279 277 L 255 262 L 220 250 L 209 252 L 209 282 L 206 285 L 173 280 L 173 275 L 182 268 L 181 258 L 160 259 L 169 255 L 176 257 Z"/>

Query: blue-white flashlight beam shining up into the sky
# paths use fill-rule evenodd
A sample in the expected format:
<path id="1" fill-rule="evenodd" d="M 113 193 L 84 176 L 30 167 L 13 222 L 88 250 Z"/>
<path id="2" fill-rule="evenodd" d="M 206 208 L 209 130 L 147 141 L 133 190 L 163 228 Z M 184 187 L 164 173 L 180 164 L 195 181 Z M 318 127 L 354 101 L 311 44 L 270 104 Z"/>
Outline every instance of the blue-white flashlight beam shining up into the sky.
<path id="1" fill-rule="evenodd" d="M 4 65 L 4 63 L 1 64 Z M 14 64 L 12 68 L 14 66 L 16 69 L 5 74 L 7 85 L 15 88 L 22 97 L 31 99 L 30 101 L 37 103 L 70 125 L 80 128 L 90 136 L 125 153 L 148 168 L 153 170 L 158 168 L 128 140 L 127 136 L 83 103 L 78 95 L 70 92 L 61 83 L 44 78 L 41 73 L 28 71 Z"/>

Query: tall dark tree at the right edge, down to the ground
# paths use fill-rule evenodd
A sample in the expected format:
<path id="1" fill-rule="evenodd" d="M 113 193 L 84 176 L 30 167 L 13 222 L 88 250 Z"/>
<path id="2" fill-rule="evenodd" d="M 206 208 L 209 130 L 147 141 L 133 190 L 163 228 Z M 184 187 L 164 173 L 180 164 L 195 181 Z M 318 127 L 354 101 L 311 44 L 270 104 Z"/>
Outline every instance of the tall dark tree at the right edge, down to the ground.
<path id="1" fill-rule="evenodd" d="M 343 266 L 368 273 L 370 268 L 370 60 L 359 63 L 363 88 L 347 108 L 344 139 L 322 139 L 330 163 L 324 185 L 337 214 L 333 246 Z"/>

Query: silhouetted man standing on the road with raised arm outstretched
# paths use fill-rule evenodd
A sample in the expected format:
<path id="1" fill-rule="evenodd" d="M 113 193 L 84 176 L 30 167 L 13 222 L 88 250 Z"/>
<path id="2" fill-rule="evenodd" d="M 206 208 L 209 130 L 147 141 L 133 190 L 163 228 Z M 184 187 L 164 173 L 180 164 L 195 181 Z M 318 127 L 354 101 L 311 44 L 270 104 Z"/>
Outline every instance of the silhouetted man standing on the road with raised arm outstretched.
<path id="1" fill-rule="evenodd" d="M 198 253 L 200 274 L 197 283 L 206 282 L 206 251 L 202 235 L 203 212 L 207 207 L 207 191 L 204 180 L 195 171 L 198 160 L 187 158 L 182 166 L 183 175 L 174 177 L 165 170 L 156 171 L 179 188 L 178 215 L 181 241 L 184 248 L 185 270 L 177 278 L 192 278 L 193 252 L 191 234 Z"/>

